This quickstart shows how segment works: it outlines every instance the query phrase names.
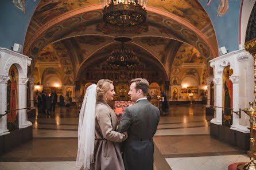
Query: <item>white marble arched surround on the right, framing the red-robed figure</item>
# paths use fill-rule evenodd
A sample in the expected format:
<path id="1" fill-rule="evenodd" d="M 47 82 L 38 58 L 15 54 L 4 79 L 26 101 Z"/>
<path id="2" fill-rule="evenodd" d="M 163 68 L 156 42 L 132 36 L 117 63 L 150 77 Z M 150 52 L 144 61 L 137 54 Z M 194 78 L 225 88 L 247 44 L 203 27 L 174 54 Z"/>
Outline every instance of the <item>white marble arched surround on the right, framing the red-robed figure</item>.
<path id="1" fill-rule="evenodd" d="M 224 54 L 210 61 L 211 67 L 214 68 L 215 82 L 215 106 L 222 107 L 222 90 L 223 90 L 223 70 L 226 66 L 233 69 L 230 80 L 233 83 L 233 106 L 234 111 L 239 108 L 249 107 L 249 101 L 254 101 L 254 59 L 245 49 L 237 50 Z M 212 123 L 222 124 L 222 108 L 216 108 L 216 116 L 211 120 Z M 241 118 L 238 114 L 233 113 L 233 124 L 231 129 L 240 132 L 249 132 L 249 116 L 241 112 Z"/>

